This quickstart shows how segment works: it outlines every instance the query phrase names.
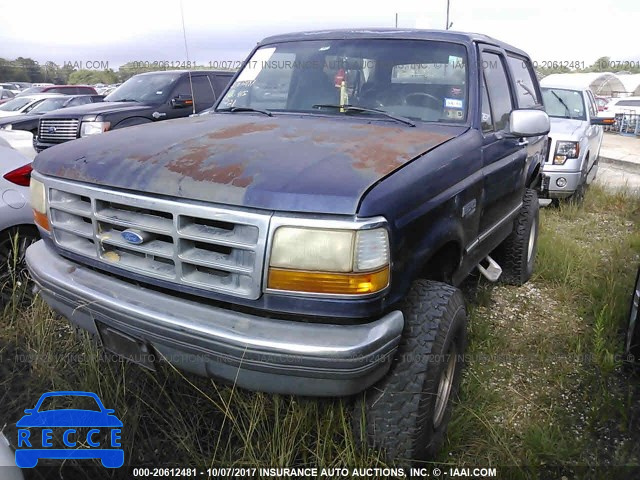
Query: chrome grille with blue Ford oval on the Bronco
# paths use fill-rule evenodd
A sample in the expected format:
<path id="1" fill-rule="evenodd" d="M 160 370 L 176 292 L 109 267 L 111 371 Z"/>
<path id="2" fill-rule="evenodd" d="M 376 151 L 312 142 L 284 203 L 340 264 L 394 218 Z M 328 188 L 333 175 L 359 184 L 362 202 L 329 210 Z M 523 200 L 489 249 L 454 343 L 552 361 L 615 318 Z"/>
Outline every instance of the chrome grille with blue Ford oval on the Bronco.
<path id="1" fill-rule="evenodd" d="M 261 293 L 270 214 L 46 181 L 56 244 L 152 279 L 249 299 Z M 122 236 L 145 236 L 140 245 Z"/>

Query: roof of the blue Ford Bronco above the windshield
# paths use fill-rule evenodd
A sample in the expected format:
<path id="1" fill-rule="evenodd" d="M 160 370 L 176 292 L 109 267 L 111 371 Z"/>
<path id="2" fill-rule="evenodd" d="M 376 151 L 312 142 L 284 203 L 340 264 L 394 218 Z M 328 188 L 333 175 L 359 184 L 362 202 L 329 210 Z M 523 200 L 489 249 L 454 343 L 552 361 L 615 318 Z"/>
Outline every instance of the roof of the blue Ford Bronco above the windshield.
<path id="1" fill-rule="evenodd" d="M 483 42 L 496 45 L 505 50 L 528 56 L 519 48 L 479 33 L 456 32 L 452 30 L 421 30 L 417 28 L 358 28 L 337 30 L 314 30 L 286 33 L 267 37 L 258 45 L 292 42 L 297 40 L 342 40 L 350 38 L 391 38 L 405 40 L 441 40 L 460 43 Z"/>

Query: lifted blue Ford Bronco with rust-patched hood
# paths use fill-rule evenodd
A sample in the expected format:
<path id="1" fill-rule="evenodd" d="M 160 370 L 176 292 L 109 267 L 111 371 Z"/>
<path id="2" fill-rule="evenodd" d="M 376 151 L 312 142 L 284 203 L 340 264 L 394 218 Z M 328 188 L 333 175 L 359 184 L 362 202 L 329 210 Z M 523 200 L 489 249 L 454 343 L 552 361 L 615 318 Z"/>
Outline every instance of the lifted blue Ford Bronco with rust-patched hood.
<path id="1" fill-rule="evenodd" d="M 237 386 L 354 396 L 359 439 L 432 457 L 474 269 L 532 274 L 549 118 L 483 35 L 260 42 L 214 108 L 39 154 L 42 297 L 109 350 Z"/>

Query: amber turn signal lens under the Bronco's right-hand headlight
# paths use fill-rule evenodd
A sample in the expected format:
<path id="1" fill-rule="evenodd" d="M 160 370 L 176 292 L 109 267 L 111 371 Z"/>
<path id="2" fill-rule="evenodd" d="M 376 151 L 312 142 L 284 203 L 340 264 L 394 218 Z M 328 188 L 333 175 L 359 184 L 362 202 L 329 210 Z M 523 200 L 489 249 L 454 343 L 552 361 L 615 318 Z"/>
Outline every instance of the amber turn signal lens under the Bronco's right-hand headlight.
<path id="1" fill-rule="evenodd" d="M 389 285 L 389 267 L 367 273 L 324 273 L 283 268 L 269 269 L 269 288 L 295 292 L 366 294 Z"/>

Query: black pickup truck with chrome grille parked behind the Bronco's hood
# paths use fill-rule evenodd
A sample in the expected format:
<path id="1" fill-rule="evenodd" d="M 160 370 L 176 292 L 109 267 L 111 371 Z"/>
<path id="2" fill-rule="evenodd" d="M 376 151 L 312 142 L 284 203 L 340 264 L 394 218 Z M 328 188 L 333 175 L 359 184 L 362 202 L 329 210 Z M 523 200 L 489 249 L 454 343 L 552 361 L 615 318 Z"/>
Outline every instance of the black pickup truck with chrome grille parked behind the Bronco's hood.
<path id="1" fill-rule="evenodd" d="M 207 70 L 135 75 L 99 105 L 43 115 L 33 146 L 41 152 L 76 138 L 199 113 L 215 103 L 232 77 L 233 72 Z"/>

